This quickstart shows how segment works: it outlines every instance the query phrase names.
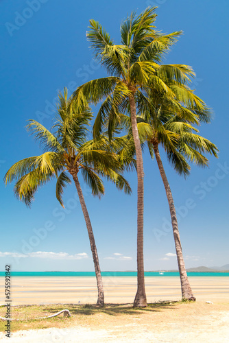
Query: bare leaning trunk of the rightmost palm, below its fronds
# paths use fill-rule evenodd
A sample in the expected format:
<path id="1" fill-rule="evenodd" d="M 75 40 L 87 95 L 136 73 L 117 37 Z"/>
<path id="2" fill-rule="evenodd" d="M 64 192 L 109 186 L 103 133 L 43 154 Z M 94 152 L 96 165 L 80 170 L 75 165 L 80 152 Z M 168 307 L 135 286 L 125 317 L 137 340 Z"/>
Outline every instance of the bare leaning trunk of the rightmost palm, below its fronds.
<path id="1" fill-rule="evenodd" d="M 167 195 L 167 199 L 169 202 L 169 211 L 171 215 L 171 224 L 173 227 L 173 237 L 176 246 L 176 255 L 178 259 L 178 268 L 180 273 L 180 283 L 181 283 L 181 291 L 182 291 L 182 299 L 183 300 L 193 300 L 195 301 L 195 297 L 193 296 L 193 292 L 191 290 L 191 286 L 189 284 L 189 279 L 186 273 L 185 265 L 184 265 L 184 258 L 182 254 L 182 247 L 180 243 L 180 233 L 178 230 L 178 220 L 176 217 L 176 209 L 173 202 L 173 196 L 171 193 L 171 189 L 169 187 L 169 182 L 167 180 L 167 176 L 165 174 L 165 169 L 162 165 L 162 161 L 160 158 L 159 150 L 158 150 L 158 143 L 153 142 L 154 145 L 154 154 L 156 157 L 156 161 L 158 163 L 158 168 L 160 171 L 160 176 L 162 178 L 163 184 L 165 186 L 165 191 Z"/>

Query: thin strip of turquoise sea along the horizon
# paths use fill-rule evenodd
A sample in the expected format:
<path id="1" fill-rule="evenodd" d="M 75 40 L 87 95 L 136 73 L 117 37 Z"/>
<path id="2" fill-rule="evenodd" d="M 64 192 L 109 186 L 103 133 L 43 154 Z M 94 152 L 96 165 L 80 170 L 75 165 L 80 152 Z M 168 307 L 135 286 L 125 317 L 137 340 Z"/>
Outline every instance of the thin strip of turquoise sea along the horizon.
<path id="1" fill-rule="evenodd" d="M 229 276 L 229 273 L 214 272 L 191 272 L 188 276 Z M 5 276 L 5 272 L 0 272 L 0 276 Z M 95 276 L 95 272 L 11 272 L 11 276 Z M 136 272 L 101 272 L 101 276 L 137 276 Z M 179 276 L 178 272 L 145 272 L 145 276 Z"/>

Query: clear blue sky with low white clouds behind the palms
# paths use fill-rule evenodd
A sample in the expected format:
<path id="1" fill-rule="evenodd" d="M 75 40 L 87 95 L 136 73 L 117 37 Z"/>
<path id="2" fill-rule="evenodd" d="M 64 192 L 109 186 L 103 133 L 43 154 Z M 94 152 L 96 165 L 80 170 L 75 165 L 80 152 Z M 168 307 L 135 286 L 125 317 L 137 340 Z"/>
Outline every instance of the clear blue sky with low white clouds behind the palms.
<path id="1" fill-rule="evenodd" d="M 161 151 L 177 206 L 186 267 L 224 265 L 228 257 L 228 1 L 0 1 L 1 180 L 13 163 L 40 154 L 25 130 L 27 119 L 50 128 L 59 90 L 106 75 L 93 61 L 86 29 L 90 19 L 119 43 L 127 14 L 157 5 L 156 26 L 184 34 L 164 61 L 189 64 L 193 88 L 213 108 L 213 121 L 200 128 L 220 150 L 210 167 L 181 178 Z M 71 92 L 70 92 L 71 93 Z M 96 115 L 96 108 L 95 115 Z M 169 207 L 155 161 L 144 154 L 145 270 L 177 268 Z M 136 174 L 126 175 L 132 196 L 105 182 L 106 195 L 93 198 L 82 183 L 101 270 L 136 270 Z M 32 209 L 14 198 L 13 185 L 1 187 L 0 270 L 93 270 L 84 217 L 76 189 L 55 198 L 55 182 L 40 189 Z"/>

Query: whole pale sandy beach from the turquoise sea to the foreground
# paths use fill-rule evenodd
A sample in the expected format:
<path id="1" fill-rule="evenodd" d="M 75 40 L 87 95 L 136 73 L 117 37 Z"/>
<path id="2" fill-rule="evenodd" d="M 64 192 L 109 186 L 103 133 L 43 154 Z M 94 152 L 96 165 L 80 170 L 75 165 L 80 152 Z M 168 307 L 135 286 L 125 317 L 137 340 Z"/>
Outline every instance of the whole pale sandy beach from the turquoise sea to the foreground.
<path id="1" fill-rule="evenodd" d="M 136 292 L 135 277 L 113 276 L 103 279 L 106 304 L 126 305 L 107 305 L 104 309 L 96 309 L 90 305 L 85 308 L 78 306 L 79 301 L 80 304 L 96 303 L 95 277 L 14 277 L 12 305 L 59 303 L 58 311 L 70 309 L 72 316 L 35 320 L 30 324 L 26 321 L 14 322 L 12 342 L 215 343 L 229 341 L 228 277 L 190 277 L 191 287 L 197 297 L 196 303 L 167 303 L 166 305 L 150 305 L 150 303 L 158 300 L 180 300 L 180 279 L 173 276 L 146 277 L 149 303 L 147 309 L 132 308 Z M 1 296 L 3 296 L 4 279 L 1 278 L 0 281 Z M 4 303 L 4 300 L 1 297 L 1 303 Z M 207 301 L 212 303 L 208 304 Z M 3 312 L 3 309 L 1 311 Z M 23 310 L 19 308 L 19 311 Z M 57 309 L 51 309 L 50 305 L 41 311 L 48 316 Z M 31 327 L 33 329 L 30 329 Z M 0 333 L 0 341 L 9 342 L 4 332 Z"/>

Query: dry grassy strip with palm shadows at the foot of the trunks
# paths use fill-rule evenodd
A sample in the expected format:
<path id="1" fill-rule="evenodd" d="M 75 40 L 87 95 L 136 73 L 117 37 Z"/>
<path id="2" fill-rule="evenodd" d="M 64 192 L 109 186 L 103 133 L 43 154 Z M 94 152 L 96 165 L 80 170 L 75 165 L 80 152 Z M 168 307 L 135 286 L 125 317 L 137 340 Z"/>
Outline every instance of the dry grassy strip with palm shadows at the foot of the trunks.
<path id="1" fill-rule="evenodd" d="M 71 318 L 60 314 L 58 317 L 36 319 L 51 316 L 62 309 L 69 309 Z M 12 307 L 12 332 L 26 329 L 45 329 L 50 327 L 69 328 L 86 327 L 88 329 L 130 329 L 133 325 L 166 329 L 175 322 L 185 326 L 186 322 L 197 324 L 197 318 L 217 315 L 218 311 L 228 310 L 228 303 L 209 305 L 206 303 L 157 302 L 147 308 L 133 308 L 132 304 L 107 304 L 103 308 L 95 305 L 32 305 Z M 5 317 L 5 307 L 0 307 L 0 316 Z M 200 319 L 199 319 L 200 320 Z M 0 321 L 0 331 L 5 330 L 5 321 Z"/>

